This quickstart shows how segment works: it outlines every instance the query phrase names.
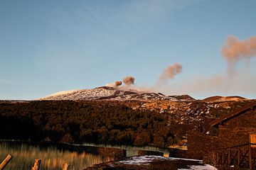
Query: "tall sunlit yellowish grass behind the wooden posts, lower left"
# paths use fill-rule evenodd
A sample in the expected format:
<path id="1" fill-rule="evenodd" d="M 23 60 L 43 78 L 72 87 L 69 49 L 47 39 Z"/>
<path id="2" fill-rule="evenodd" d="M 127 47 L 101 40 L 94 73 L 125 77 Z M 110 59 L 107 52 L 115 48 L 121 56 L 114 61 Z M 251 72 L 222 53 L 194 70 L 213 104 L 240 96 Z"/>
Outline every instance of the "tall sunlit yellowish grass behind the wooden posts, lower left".
<path id="1" fill-rule="evenodd" d="M 12 154 L 14 158 L 6 166 L 6 169 L 31 169 L 35 159 L 41 159 L 41 169 L 62 169 L 64 162 L 70 164 L 69 169 L 85 169 L 87 166 L 113 160 L 110 157 L 102 157 L 85 152 L 69 152 L 56 149 L 54 147 L 41 148 L 26 144 L 14 145 L 8 142 L 0 143 L 0 162 L 7 154 Z"/>

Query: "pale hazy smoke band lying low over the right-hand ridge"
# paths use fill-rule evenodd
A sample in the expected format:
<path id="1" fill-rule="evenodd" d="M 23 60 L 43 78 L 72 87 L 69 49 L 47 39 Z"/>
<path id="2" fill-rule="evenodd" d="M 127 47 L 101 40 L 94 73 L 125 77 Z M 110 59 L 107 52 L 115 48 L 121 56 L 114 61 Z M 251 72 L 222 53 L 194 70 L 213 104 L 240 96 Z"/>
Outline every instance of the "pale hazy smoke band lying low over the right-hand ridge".
<path id="1" fill-rule="evenodd" d="M 189 94 L 189 95 L 245 95 L 256 94 L 256 74 L 250 70 L 242 70 L 230 77 L 228 74 L 213 74 L 208 77 L 189 77 L 178 81 L 172 86 L 161 86 L 160 91 L 164 94 Z M 171 90 L 170 90 L 171 89 Z"/>

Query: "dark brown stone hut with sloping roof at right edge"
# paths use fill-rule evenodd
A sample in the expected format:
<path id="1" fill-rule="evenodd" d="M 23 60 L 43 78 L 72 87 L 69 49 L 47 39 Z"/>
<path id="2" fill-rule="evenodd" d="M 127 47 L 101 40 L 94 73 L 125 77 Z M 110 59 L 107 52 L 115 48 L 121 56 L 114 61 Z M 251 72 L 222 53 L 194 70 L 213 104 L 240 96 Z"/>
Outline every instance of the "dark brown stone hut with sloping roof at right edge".
<path id="1" fill-rule="evenodd" d="M 210 134 L 188 132 L 188 154 L 203 159 L 210 150 L 248 144 L 256 134 L 256 102 L 210 122 Z"/>

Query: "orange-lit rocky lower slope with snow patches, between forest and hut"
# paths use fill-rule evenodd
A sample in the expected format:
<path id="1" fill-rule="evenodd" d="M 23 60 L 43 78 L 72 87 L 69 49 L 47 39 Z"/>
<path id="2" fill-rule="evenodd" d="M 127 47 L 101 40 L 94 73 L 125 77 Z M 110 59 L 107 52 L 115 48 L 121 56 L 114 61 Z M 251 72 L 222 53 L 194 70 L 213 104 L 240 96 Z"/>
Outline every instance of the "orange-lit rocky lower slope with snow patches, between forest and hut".
<path id="1" fill-rule="evenodd" d="M 130 101 L 123 102 L 139 110 L 156 111 L 168 115 L 168 125 L 207 125 L 211 120 L 232 113 L 255 100 L 218 101 Z"/>

